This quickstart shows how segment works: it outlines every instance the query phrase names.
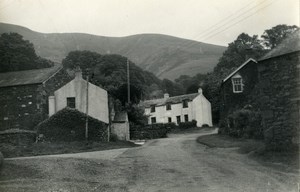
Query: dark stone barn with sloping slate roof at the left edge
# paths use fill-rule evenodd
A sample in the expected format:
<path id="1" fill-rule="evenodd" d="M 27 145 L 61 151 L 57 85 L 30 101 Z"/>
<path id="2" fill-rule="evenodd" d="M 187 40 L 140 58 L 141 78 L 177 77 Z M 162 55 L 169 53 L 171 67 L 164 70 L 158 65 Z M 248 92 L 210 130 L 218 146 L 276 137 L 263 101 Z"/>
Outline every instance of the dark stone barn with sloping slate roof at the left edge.
<path id="1" fill-rule="evenodd" d="M 0 131 L 32 130 L 48 116 L 48 96 L 70 80 L 59 65 L 0 73 Z"/>

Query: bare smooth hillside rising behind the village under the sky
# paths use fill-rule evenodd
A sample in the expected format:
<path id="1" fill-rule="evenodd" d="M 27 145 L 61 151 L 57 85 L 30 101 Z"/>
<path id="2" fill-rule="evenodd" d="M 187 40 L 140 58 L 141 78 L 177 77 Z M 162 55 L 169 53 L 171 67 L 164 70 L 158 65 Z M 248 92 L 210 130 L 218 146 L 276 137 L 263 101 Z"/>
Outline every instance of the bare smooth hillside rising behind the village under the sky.
<path id="1" fill-rule="evenodd" d="M 120 54 L 159 78 L 207 73 L 226 47 L 160 34 L 104 37 L 82 33 L 38 33 L 25 27 L 0 23 L 0 33 L 16 32 L 31 41 L 37 55 L 61 62 L 70 51 L 90 50 Z"/>

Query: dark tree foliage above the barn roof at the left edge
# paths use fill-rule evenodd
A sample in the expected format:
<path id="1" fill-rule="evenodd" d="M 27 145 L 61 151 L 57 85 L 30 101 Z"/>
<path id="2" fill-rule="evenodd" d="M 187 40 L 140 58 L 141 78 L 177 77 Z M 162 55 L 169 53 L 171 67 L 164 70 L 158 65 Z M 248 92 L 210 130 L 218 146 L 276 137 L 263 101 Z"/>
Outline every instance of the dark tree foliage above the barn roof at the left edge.
<path id="1" fill-rule="evenodd" d="M 0 72 L 51 67 L 53 62 L 36 55 L 34 46 L 18 33 L 0 36 Z"/>

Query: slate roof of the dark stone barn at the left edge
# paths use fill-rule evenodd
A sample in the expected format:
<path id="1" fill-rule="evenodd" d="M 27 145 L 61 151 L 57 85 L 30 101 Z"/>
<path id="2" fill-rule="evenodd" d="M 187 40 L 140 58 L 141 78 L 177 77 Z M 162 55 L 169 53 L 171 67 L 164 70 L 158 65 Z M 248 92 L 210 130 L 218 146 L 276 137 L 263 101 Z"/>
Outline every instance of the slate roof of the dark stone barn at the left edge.
<path id="1" fill-rule="evenodd" d="M 0 87 L 43 83 L 60 71 L 60 65 L 50 68 L 0 73 Z"/>

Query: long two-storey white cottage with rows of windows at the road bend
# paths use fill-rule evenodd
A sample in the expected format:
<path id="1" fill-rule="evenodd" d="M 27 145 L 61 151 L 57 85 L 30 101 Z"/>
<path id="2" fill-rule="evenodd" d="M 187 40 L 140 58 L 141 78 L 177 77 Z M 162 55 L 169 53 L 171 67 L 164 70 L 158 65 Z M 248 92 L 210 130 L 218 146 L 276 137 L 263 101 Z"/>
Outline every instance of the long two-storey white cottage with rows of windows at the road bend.
<path id="1" fill-rule="evenodd" d="M 141 103 L 148 116 L 148 123 L 170 123 L 197 121 L 197 126 L 204 124 L 212 126 L 211 104 L 202 94 L 199 88 L 198 93 L 146 100 Z"/>

